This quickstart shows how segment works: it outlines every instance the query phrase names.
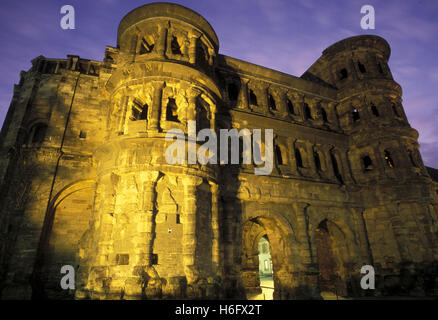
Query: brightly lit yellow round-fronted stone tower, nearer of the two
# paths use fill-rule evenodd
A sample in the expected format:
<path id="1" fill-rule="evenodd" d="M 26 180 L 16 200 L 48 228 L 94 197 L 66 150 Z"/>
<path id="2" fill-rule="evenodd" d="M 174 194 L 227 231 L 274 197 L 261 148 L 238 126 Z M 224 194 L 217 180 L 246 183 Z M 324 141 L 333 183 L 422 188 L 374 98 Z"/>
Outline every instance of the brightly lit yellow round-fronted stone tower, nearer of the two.
<path id="1" fill-rule="evenodd" d="M 218 48 L 210 24 L 179 5 L 144 5 L 121 21 L 105 56 L 109 129 L 95 152 L 77 298 L 218 297 L 217 166 L 165 159 L 168 130 L 215 130 Z"/>

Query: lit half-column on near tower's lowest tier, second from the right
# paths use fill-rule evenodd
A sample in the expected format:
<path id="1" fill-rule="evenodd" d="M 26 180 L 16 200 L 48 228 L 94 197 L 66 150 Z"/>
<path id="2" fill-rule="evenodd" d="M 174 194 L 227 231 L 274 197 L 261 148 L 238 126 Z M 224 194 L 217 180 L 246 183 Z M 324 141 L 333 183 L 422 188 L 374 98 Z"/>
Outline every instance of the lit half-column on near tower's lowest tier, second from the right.
<path id="1" fill-rule="evenodd" d="M 184 214 L 183 220 L 183 265 L 187 284 L 198 280 L 199 271 L 196 265 L 196 196 L 197 186 L 202 183 L 202 178 L 187 176 L 183 178 L 184 184 Z"/>

